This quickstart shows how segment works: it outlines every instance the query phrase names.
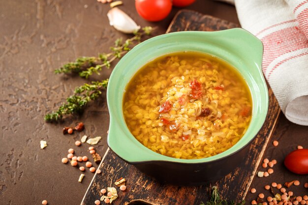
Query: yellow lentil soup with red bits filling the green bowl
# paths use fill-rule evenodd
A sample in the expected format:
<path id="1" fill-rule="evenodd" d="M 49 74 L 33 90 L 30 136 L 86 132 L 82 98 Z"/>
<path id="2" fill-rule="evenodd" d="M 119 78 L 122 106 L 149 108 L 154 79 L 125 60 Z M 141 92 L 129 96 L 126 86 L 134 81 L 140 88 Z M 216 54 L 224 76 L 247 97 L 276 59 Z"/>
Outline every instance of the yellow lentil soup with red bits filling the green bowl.
<path id="1" fill-rule="evenodd" d="M 126 87 L 124 118 L 144 146 L 175 158 L 214 156 L 234 146 L 251 119 L 251 95 L 231 65 L 181 52 L 154 59 Z"/>

